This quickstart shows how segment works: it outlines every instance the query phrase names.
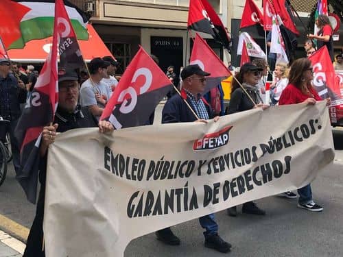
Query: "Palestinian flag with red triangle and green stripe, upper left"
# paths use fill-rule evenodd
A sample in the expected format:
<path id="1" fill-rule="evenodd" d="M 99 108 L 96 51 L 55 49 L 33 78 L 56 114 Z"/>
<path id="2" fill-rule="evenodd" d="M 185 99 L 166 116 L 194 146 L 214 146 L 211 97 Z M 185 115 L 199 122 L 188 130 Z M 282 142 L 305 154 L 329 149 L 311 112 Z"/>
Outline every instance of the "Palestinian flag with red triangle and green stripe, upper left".
<path id="1" fill-rule="evenodd" d="M 75 5 L 64 1 L 78 39 L 87 40 L 89 17 Z M 54 0 L 1 0 L 0 36 L 6 49 L 22 49 L 33 39 L 52 36 L 54 29 Z"/>

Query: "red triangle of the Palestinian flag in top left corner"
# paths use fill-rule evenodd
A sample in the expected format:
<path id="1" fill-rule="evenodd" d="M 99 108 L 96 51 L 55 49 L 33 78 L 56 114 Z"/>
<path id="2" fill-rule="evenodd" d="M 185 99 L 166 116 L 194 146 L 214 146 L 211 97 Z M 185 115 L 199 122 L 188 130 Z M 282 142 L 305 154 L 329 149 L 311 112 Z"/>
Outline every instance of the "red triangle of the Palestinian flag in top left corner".
<path id="1" fill-rule="evenodd" d="M 3 45 L 8 49 L 12 42 L 21 38 L 21 19 L 31 9 L 14 1 L 1 0 L 0 10 L 0 35 L 3 38 Z"/>

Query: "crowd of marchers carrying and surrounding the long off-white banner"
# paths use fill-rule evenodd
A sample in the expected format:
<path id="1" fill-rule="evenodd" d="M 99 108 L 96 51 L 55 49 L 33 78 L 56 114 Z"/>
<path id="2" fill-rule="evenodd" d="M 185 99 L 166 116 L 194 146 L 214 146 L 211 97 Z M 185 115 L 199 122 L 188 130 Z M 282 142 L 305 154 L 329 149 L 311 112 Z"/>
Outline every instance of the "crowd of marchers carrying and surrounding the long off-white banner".
<path id="1" fill-rule="evenodd" d="M 316 39 L 319 42 L 319 47 L 327 45 L 333 60 L 331 26 L 327 19 L 322 16 L 316 21 L 316 24 L 320 32 L 317 35 L 308 35 L 310 40 L 305 42 L 306 55 L 309 57 L 316 51 L 311 40 Z M 342 59 L 342 54 L 335 56 L 335 69 L 343 69 Z M 307 58 L 295 60 L 290 67 L 285 63 L 277 63 L 276 56 L 274 55 L 270 55 L 269 60 L 273 66 L 272 71 L 274 71 L 274 81 L 270 88 L 270 102 L 265 101 L 265 78 L 268 75 L 268 63 L 265 60 L 255 59 L 251 63 L 249 62 L 241 66 L 239 72 L 236 73 L 237 80 L 233 81 L 230 103 L 226 112 L 224 112 L 224 106 L 220 108 L 216 104 L 213 106 L 211 101 L 205 101 L 201 97 L 206 85 L 206 76 L 210 74 L 202 71 L 197 64 L 185 66 L 180 73 L 180 80 L 182 80 L 181 91 L 199 119 L 196 119 L 193 112 L 189 110 L 189 106 L 183 101 L 182 95 L 174 92 L 168 95 L 169 100 L 163 108 L 162 122 L 194 121 L 206 123 L 206 120 L 212 118 L 217 121 L 222 114 L 233 114 L 252 108 L 265 109 L 269 105 L 302 102 L 313 105 L 316 101 L 322 100 L 311 84 L 314 78 L 313 67 Z M 68 69 L 60 69 L 58 75 L 59 105 L 54 125 L 44 127 L 43 130 L 42 145 L 40 146 L 40 156 L 43 160 L 42 168 L 40 169 L 40 194 L 36 217 L 27 239 L 27 248 L 24 256 L 45 256 L 45 253 L 42 252 L 42 244 L 47 147 L 49 144 L 54 143 L 56 132 L 65 132 L 77 127 L 95 126 L 99 126 L 100 132 L 114 130 L 113 125 L 107 121 L 99 121 L 99 117 L 102 115 L 106 103 L 113 94 L 120 79 L 120 76 L 115 74 L 118 66 L 119 62 L 117 60 L 106 56 L 91 60 L 88 64 L 88 71 L 82 70 L 79 74 Z M 3 119 L 10 121 L 8 132 L 10 132 L 12 143 L 14 169 L 19 169 L 19 145 L 16 143 L 13 132 L 21 114 L 21 103 L 25 103 L 27 97 L 30 97 L 37 82 L 38 72 L 32 65 L 27 65 L 27 70 L 25 71 L 21 64 L 16 62 L 12 62 L 12 71 L 10 68 L 10 60 L 6 58 L 0 59 L 0 115 Z M 234 69 L 234 67 L 230 64 L 229 69 Z M 178 76 L 174 73 L 174 66 L 168 67 L 166 75 L 175 86 L 178 86 Z M 209 98 L 211 99 L 211 96 Z M 329 105 L 330 99 L 326 99 L 326 101 Z M 312 199 L 310 184 L 298 189 L 298 195 L 300 195 L 298 199 L 299 208 L 313 212 L 323 210 L 323 207 L 316 204 Z M 283 196 L 294 198 L 296 194 L 285 192 Z M 265 215 L 265 211 L 257 207 L 257 204 L 253 201 L 243 204 L 242 212 L 253 215 Z M 228 215 L 231 217 L 237 216 L 236 206 L 228 209 Z M 230 243 L 227 243 L 218 235 L 218 225 L 213 214 L 200 217 L 199 221 L 205 230 L 204 240 L 206 247 L 213 248 L 219 252 L 230 251 Z M 158 230 L 156 236 L 158 240 L 169 245 L 180 244 L 180 239 L 174 235 L 170 228 Z"/>

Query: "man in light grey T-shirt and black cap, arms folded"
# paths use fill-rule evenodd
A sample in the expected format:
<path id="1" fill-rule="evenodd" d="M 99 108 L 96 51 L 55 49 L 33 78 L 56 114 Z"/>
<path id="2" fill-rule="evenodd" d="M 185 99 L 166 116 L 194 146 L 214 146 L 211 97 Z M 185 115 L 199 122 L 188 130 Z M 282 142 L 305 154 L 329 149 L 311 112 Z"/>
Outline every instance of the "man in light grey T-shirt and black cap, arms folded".
<path id="1" fill-rule="evenodd" d="M 102 82 L 102 79 L 107 76 L 109 65 L 110 63 L 102 58 L 91 60 L 88 64 L 91 77 L 82 84 L 80 89 L 81 106 L 86 106 L 97 119 L 102 115 L 102 111 L 112 95 L 110 88 Z"/>

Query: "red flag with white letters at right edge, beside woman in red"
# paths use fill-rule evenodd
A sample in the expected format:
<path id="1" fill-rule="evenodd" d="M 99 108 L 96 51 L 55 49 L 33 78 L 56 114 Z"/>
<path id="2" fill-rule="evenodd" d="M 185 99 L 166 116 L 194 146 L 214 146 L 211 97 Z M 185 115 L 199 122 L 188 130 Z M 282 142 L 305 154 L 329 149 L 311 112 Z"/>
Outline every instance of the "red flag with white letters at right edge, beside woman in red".
<path id="1" fill-rule="evenodd" d="M 330 97 L 331 106 L 343 104 L 340 85 L 335 82 L 335 70 L 327 47 L 322 47 L 309 57 L 314 67 L 314 88 L 322 99 Z"/>

